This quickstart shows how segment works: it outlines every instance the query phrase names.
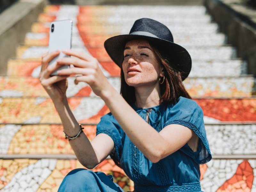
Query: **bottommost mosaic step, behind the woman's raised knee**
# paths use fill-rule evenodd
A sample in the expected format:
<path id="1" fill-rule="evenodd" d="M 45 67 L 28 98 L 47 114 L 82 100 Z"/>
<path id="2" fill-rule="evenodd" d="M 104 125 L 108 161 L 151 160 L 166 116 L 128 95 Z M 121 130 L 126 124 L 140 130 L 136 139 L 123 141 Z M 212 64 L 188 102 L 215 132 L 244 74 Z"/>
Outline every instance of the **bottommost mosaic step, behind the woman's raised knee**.
<path id="1" fill-rule="evenodd" d="M 76 159 L 0 159 L 0 189 L 1 192 L 19 189 L 57 191 L 66 174 L 76 168 L 84 168 Z M 133 191 L 132 180 L 111 159 L 104 160 L 92 171 L 111 174 L 124 191 Z M 212 159 L 200 165 L 200 172 L 204 191 L 251 191 L 256 188 L 256 181 L 253 180 L 255 159 Z"/>

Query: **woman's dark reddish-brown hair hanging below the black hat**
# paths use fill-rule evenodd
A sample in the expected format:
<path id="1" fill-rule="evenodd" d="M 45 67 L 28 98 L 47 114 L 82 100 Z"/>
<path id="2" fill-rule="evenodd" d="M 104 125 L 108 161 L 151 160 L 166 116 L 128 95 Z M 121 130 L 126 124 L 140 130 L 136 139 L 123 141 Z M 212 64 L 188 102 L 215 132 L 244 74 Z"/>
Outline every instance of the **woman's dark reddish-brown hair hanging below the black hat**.
<path id="1" fill-rule="evenodd" d="M 180 96 L 191 99 L 190 95 L 186 91 L 181 74 L 177 71 L 172 65 L 173 62 L 170 60 L 167 55 L 170 54 L 159 45 L 149 42 L 150 46 L 155 52 L 156 58 L 160 65 L 164 68 L 165 80 L 163 84 L 160 84 L 160 100 L 161 103 L 175 103 Z M 121 95 L 124 97 L 127 103 L 132 104 L 135 102 L 135 89 L 132 86 L 129 86 L 124 79 L 124 71 L 121 66 Z"/>

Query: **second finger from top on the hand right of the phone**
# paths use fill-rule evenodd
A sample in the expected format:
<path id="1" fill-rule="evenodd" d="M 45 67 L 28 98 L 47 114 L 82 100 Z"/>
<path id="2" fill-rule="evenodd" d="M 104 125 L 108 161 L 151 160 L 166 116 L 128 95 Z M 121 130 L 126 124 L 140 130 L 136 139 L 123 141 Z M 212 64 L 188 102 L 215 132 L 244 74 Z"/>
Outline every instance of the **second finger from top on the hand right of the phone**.
<path id="1" fill-rule="evenodd" d="M 57 60 L 57 63 L 60 65 L 74 65 L 80 68 L 94 68 L 94 65 L 95 65 L 95 63 L 92 63 L 86 60 L 70 58 L 70 57 L 60 58 Z"/>

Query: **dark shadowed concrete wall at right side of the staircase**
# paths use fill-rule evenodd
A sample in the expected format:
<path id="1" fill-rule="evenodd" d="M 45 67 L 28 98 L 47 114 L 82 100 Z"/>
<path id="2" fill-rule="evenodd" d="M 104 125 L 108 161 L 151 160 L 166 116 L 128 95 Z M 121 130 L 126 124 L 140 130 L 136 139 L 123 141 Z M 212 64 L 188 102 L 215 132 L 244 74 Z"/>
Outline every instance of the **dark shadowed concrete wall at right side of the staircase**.
<path id="1" fill-rule="evenodd" d="M 232 9 L 220 0 L 205 0 L 208 12 L 237 49 L 237 56 L 248 63 L 247 73 L 256 77 L 256 24 L 250 17 Z"/>

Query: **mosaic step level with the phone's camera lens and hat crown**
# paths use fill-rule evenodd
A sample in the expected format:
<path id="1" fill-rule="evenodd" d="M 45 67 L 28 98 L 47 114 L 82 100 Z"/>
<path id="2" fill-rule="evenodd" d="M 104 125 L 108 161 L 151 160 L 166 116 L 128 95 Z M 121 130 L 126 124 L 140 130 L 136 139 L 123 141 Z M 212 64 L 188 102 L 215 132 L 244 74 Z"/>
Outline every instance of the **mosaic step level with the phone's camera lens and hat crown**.
<path id="1" fill-rule="evenodd" d="M 134 22 L 134 21 L 133 21 Z M 77 27 L 80 32 L 84 32 L 87 35 L 107 35 L 107 36 L 115 36 L 120 34 L 128 34 L 132 25 L 129 26 L 119 26 L 118 25 L 110 25 L 110 24 L 101 24 L 99 25 L 92 24 L 94 26 L 89 26 L 88 24 L 77 24 Z M 174 36 L 178 36 L 178 34 L 209 34 L 217 33 L 219 31 L 218 25 L 216 23 L 205 23 L 203 25 L 196 24 L 195 26 L 189 25 L 181 25 L 179 23 L 172 24 L 170 27 L 172 34 Z M 113 30 L 115 28 L 116 30 Z M 79 33 L 76 25 L 73 25 L 72 34 L 76 35 Z M 103 30 L 104 29 L 104 30 Z M 31 26 L 31 32 L 33 33 L 49 33 L 50 30 L 50 22 L 35 22 Z"/>

